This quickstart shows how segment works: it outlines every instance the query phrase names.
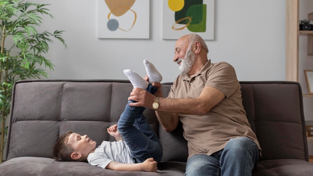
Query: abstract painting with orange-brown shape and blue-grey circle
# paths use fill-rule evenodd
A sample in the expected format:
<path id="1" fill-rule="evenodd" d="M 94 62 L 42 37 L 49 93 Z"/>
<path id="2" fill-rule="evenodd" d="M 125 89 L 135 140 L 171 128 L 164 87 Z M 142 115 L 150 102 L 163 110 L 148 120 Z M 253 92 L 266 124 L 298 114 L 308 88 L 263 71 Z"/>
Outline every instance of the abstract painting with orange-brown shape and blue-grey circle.
<path id="1" fill-rule="evenodd" d="M 98 38 L 149 38 L 149 0 L 98 0 Z"/>

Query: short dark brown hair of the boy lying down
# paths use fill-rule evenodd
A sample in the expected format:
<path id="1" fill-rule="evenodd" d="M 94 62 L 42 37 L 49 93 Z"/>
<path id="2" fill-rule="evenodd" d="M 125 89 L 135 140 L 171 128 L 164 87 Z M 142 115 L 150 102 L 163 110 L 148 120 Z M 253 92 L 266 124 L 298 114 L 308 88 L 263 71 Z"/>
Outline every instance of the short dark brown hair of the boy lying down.
<path id="1" fill-rule="evenodd" d="M 74 161 L 70 157 L 70 154 L 73 152 L 73 148 L 67 144 L 69 134 L 73 133 L 72 131 L 67 131 L 63 133 L 55 142 L 53 147 L 53 155 L 56 161 Z"/>

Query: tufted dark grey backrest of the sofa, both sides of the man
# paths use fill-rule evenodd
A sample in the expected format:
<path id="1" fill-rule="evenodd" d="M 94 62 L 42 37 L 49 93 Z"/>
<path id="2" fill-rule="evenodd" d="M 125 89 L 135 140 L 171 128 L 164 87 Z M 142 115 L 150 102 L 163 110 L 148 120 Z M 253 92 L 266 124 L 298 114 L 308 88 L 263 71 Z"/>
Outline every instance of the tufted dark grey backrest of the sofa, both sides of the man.
<path id="1" fill-rule="evenodd" d="M 248 120 L 262 147 L 262 159 L 307 159 L 300 85 L 296 82 L 240 82 Z M 167 96 L 171 83 L 163 83 Z M 13 86 L 7 157 L 53 157 L 62 133 L 87 134 L 100 144 L 114 140 L 106 128 L 115 124 L 132 85 L 127 80 L 21 80 Z M 181 124 L 165 132 L 152 109 L 144 115 L 159 136 L 163 161 L 186 161 Z"/>

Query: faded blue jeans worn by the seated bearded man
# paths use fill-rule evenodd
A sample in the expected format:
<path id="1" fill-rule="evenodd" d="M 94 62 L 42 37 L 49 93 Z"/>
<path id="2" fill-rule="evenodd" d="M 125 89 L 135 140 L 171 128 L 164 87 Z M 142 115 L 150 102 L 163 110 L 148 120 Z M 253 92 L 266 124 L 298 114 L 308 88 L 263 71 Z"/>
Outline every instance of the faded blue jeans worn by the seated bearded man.
<path id="1" fill-rule="evenodd" d="M 224 149 L 211 155 L 195 154 L 191 156 L 186 163 L 185 175 L 251 175 L 258 156 L 257 145 L 250 138 L 232 138 Z"/>

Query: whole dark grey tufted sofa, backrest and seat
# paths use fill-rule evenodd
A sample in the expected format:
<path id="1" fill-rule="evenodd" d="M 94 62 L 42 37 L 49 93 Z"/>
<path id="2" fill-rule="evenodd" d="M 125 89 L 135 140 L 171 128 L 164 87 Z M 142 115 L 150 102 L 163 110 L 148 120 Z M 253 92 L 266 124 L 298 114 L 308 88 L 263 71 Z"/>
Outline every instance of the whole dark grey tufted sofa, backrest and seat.
<path id="1" fill-rule="evenodd" d="M 313 175 L 297 82 L 240 82 L 243 105 L 262 147 L 252 175 Z M 163 83 L 167 94 L 171 83 Z M 52 147 L 73 130 L 100 144 L 113 140 L 106 127 L 117 122 L 132 85 L 126 80 L 22 80 L 13 86 L 6 161 L 0 175 L 184 175 L 187 145 L 182 127 L 165 132 L 153 110 L 145 116 L 163 146 L 157 172 L 113 171 L 85 162 L 58 162 Z"/>

